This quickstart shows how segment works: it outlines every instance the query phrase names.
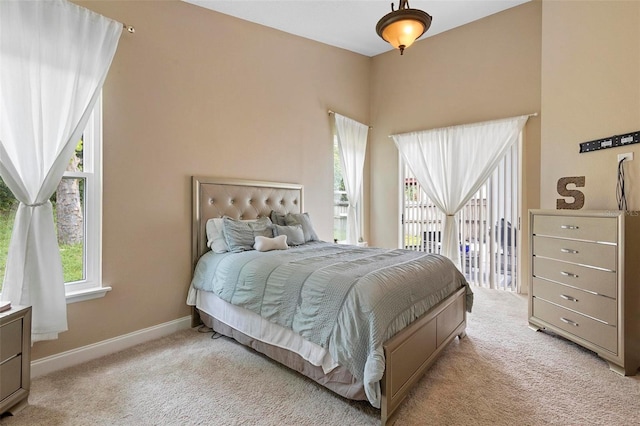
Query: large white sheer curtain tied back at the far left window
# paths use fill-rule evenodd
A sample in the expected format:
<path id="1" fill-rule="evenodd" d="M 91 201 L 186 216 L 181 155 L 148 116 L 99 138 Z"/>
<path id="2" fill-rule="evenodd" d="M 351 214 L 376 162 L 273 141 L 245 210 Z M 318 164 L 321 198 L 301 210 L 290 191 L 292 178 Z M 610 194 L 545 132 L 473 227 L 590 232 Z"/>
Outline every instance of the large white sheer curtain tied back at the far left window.
<path id="1" fill-rule="evenodd" d="M 53 209 L 122 24 L 64 0 L 0 1 L 0 176 L 20 201 L 2 299 L 31 305 L 33 341 L 67 330 Z"/>

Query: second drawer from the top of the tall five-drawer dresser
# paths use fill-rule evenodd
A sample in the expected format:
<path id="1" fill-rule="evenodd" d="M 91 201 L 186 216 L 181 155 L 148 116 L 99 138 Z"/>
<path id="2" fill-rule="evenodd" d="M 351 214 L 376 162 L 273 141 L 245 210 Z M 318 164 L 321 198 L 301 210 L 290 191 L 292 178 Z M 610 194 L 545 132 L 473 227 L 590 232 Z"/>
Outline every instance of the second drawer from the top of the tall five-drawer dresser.
<path id="1" fill-rule="evenodd" d="M 561 238 L 533 237 L 533 255 L 615 271 L 617 247 Z"/>

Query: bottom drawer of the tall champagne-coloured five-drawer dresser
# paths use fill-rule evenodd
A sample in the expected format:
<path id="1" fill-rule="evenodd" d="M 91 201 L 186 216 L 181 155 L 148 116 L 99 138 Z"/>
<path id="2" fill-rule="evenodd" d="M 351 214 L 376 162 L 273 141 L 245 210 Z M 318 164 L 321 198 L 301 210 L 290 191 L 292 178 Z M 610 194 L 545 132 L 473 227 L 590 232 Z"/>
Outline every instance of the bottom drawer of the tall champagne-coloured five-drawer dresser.
<path id="1" fill-rule="evenodd" d="M 618 353 L 616 327 L 571 312 L 536 297 L 533 298 L 533 315 L 611 353 Z"/>

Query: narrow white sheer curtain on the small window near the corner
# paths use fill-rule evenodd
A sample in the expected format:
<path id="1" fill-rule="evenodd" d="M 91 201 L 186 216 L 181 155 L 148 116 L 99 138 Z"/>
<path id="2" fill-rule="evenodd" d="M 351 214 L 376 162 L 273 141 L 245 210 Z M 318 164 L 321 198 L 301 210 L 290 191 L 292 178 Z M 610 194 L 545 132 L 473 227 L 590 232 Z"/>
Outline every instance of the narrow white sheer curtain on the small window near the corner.
<path id="1" fill-rule="evenodd" d="M 338 138 L 340 163 L 345 191 L 349 199 L 347 210 L 347 244 L 356 244 L 362 229 L 358 217 L 358 202 L 362 192 L 364 158 L 367 151 L 369 126 L 340 114 L 333 114 Z"/>

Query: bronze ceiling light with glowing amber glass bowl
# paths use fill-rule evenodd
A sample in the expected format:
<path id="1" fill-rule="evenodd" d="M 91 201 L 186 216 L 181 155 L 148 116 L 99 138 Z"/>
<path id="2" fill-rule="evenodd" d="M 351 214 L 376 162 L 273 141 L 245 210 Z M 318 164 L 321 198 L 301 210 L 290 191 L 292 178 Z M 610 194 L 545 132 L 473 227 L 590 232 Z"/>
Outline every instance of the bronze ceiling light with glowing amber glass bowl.
<path id="1" fill-rule="evenodd" d="M 387 13 L 378 21 L 376 32 L 390 43 L 400 54 L 411 46 L 431 26 L 431 15 L 418 9 L 409 8 L 409 0 L 400 0 L 398 10 Z"/>

